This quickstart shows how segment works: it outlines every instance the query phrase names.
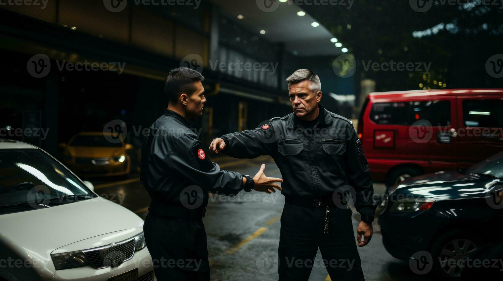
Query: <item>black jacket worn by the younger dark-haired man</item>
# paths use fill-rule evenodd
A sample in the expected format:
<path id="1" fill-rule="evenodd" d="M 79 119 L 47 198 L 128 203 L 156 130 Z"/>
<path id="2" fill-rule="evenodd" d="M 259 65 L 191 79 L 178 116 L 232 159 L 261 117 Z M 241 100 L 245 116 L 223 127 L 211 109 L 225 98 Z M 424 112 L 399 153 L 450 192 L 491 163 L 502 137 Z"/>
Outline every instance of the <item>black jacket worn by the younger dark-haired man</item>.
<path id="1" fill-rule="evenodd" d="M 208 192 L 232 196 L 243 189 L 242 175 L 212 163 L 201 147 L 194 123 L 172 110 L 164 109 L 150 126 L 141 156 L 141 182 L 153 201 L 184 205 L 184 193 L 191 196 L 195 190 L 197 195 L 189 200 L 202 199 L 198 205 L 205 207 Z"/>

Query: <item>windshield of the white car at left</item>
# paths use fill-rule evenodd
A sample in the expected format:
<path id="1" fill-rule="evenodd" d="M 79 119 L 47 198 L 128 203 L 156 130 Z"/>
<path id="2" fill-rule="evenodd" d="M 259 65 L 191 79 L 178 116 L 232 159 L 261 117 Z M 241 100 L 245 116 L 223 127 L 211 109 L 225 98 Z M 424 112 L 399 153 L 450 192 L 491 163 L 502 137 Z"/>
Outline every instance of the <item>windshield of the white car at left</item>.
<path id="1" fill-rule="evenodd" d="M 70 171 L 39 149 L 0 150 L 0 175 L 0 214 L 96 197 Z"/>

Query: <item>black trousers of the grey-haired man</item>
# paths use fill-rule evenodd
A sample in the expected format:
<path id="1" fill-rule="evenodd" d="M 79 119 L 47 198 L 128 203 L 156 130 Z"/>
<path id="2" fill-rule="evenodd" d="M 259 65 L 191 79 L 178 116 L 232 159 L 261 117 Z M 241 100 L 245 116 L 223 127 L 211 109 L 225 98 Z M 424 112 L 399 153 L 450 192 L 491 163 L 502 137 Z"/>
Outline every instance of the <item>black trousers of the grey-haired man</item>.
<path id="1" fill-rule="evenodd" d="M 351 221 L 353 212 L 329 208 L 328 233 L 324 233 L 326 207 L 285 204 L 278 249 L 280 281 L 307 281 L 312 267 L 321 264 L 333 281 L 365 280 Z M 315 260 L 318 248 L 322 260 Z"/>

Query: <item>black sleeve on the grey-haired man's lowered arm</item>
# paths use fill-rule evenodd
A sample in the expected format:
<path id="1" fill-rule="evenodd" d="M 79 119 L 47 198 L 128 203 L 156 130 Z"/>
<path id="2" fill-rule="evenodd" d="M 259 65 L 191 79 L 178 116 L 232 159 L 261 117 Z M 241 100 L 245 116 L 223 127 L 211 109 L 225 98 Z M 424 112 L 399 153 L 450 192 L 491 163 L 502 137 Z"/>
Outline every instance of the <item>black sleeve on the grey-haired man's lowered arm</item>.
<path id="1" fill-rule="evenodd" d="M 347 128 L 346 175 L 356 191 L 355 207 L 362 215 L 374 215 L 377 204 L 373 200 L 374 187 L 367 158 L 363 154 L 360 139 L 353 125 Z"/>

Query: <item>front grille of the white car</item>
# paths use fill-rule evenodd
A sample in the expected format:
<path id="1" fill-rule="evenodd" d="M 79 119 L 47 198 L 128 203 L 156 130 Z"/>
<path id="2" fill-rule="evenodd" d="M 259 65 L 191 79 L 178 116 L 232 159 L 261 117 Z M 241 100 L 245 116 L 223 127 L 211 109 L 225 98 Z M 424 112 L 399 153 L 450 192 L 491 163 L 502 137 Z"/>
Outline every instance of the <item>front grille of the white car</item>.
<path id="1" fill-rule="evenodd" d="M 134 238 L 97 249 L 84 250 L 94 268 L 116 267 L 133 257 Z"/>

